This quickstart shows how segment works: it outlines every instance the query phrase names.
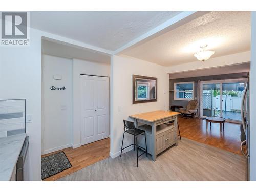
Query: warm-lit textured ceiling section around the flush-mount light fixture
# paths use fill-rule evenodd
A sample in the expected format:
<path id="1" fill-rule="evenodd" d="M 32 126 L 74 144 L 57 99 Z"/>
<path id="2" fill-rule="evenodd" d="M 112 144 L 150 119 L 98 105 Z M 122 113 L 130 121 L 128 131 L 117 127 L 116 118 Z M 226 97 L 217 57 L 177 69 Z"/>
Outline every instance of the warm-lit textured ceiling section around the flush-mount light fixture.
<path id="1" fill-rule="evenodd" d="M 209 12 L 122 54 L 163 66 L 197 61 L 194 53 L 208 44 L 212 57 L 250 50 L 250 12 Z"/>

